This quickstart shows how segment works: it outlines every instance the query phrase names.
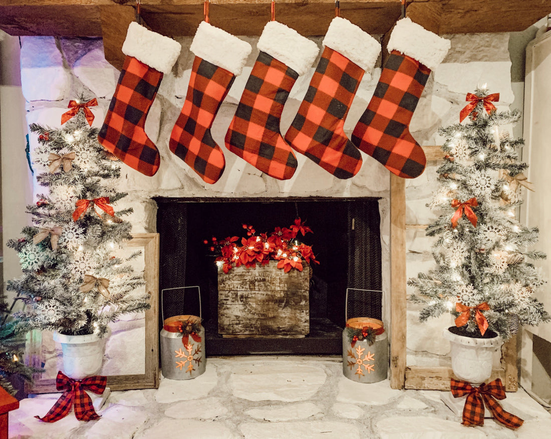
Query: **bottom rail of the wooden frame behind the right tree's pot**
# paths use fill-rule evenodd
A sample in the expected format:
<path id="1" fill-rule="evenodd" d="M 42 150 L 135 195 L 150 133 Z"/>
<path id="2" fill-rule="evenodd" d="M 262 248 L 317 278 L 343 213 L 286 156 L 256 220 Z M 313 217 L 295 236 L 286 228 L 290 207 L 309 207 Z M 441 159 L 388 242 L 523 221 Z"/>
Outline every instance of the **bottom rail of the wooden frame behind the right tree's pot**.
<path id="1" fill-rule="evenodd" d="M 450 379 L 457 377 L 453 374 L 450 367 L 434 366 L 406 367 L 406 389 L 416 390 L 450 390 Z M 489 381 L 500 378 L 504 381 L 505 371 L 503 369 L 494 369 L 491 371 Z"/>

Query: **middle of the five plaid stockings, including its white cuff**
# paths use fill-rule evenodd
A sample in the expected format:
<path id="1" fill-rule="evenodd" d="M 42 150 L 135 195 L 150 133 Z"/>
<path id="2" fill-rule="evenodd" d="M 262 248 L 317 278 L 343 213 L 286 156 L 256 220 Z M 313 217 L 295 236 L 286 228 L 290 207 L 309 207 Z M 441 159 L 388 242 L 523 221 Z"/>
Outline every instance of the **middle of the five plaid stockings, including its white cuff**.
<path id="1" fill-rule="evenodd" d="M 283 140 L 279 122 L 296 79 L 314 62 L 315 42 L 278 22 L 264 26 L 260 53 L 228 132 L 226 147 L 255 168 L 279 180 L 290 179 L 297 161 Z"/>

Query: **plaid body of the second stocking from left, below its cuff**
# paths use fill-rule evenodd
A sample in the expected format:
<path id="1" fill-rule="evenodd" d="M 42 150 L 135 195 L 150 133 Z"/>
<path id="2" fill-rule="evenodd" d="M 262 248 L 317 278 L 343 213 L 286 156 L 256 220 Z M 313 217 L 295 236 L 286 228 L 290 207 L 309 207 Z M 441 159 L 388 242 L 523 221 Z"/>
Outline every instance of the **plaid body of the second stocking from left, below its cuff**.
<path id="1" fill-rule="evenodd" d="M 186 101 L 170 135 L 170 151 L 210 184 L 218 181 L 226 165 L 210 127 L 234 79 L 233 73 L 196 56 Z"/>

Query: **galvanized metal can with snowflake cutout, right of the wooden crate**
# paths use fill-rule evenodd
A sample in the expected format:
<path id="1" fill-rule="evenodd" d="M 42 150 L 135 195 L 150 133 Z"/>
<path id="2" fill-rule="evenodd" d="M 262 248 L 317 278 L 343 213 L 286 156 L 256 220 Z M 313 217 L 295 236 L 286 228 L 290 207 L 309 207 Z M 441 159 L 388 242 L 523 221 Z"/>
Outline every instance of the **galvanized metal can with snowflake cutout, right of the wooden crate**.
<path id="1" fill-rule="evenodd" d="M 383 322 L 369 317 L 349 319 L 347 303 L 343 330 L 344 376 L 358 383 L 376 383 L 386 379 L 387 373 L 388 336 Z"/>

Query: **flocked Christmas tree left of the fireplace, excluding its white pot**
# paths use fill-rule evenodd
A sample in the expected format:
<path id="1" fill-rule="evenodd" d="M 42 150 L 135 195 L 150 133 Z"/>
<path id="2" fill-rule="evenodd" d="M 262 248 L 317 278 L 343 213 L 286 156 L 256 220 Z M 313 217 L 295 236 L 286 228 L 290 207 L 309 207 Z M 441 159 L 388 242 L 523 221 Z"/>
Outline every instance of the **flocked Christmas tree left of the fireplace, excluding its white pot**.
<path id="1" fill-rule="evenodd" d="M 143 276 L 129 264 L 139 251 L 128 258 L 114 254 L 132 238 L 131 224 L 122 219 L 132 209 L 113 208 L 127 195 L 116 189 L 120 165 L 98 143 L 98 130 L 88 122 L 93 115 L 79 105 L 84 100 L 72 101 L 62 129 L 30 125 L 40 143 L 34 167 L 44 171 L 37 182 L 47 192 L 27 206 L 33 226 L 8 241 L 23 269 L 20 279 L 8 282 L 25 304 L 14 314 L 20 330 L 101 337 L 121 314 L 149 307 L 148 294 L 134 291 Z"/>

